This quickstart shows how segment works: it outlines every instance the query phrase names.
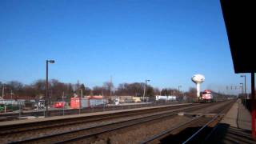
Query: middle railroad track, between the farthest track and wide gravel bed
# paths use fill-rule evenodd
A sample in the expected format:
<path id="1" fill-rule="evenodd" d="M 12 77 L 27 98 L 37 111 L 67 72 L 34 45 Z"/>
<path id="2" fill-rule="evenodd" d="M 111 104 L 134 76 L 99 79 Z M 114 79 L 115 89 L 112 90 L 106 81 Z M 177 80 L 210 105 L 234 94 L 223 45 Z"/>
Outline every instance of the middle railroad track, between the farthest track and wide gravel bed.
<path id="1" fill-rule="evenodd" d="M 18 143 L 63 143 L 63 142 L 65 143 L 65 142 L 78 142 L 84 139 L 86 139 L 86 142 L 90 142 L 90 139 L 93 139 L 94 141 L 94 139 L 98 138 L 99 135 L 101 134 L 108 134 L 116 130 L 125 129 L 130 126 L 141 125 L 146 122 L 160 121 L 164 118 L 172 118 L 176 116 L 178 112 L 181 112 L 184 110 L 187 112 L 190 112 L 190 111 L 202 109 L 203 107 L 206 107 L 206 106 L 212 106 L 214 104 L 216 103 L 189 106 L 186 108 L 180 108 L 178 110 L 162 112 L 162 114 L 152 114 L 146 117 L 133 118 L 133 119 L 125 120 L 122 122 L 111 122 L 108 124 L 91 126 L 91 127 L 87 127 L 79 130 L 71 130 L 71 131 L 66 131 L 58 134 L 45 135 L 38 138 L 23 139 L 17 142 Z"/>

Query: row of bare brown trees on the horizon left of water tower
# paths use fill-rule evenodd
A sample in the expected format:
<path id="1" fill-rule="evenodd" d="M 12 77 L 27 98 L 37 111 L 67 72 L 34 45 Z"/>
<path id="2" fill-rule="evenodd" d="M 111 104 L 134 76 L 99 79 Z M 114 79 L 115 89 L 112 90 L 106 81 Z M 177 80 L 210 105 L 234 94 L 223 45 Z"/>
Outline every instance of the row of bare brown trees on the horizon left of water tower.
<path id="1" fill-rule="evenodd" d="M 46 95 L 46 81 L 38 79 L 29 85 L 23 84 L 18 81 L 0 82 L 0 88 L 2 90 L 1 97 L 14 98 L 14 99 L 40 99 Z M 113 95 L 118 96 L 136 96 L 142 97 L 144 95 L 145 83 L 133 82 L 133 83 L 121 83 L 116 88 L 112 82 L 104 82 L 102 86 L 94 86 L 92 88 L 86 86 L 83 83 L 65 83 L 60 82 L 57 79 L 51 79 L 49 81 L 49 96 L 52 100 L 58 100 L 64 96 L 64 98 L 70 99 L 74 97 L 74 94 L 80 95 L 81 91 L 83 95 L 103 95 L 104 97 L 110 97 Z M 182 97 L 184 94 L 193 98 L 196 94 L 194 88 L 190 88 L 189 91 L 183 93 L 177 89 L 165 88 L 159 90 L 157 87 L 146 85 L 145 95 L 147 97 L 154 97 L 155 95 L 176 95 Z"/>

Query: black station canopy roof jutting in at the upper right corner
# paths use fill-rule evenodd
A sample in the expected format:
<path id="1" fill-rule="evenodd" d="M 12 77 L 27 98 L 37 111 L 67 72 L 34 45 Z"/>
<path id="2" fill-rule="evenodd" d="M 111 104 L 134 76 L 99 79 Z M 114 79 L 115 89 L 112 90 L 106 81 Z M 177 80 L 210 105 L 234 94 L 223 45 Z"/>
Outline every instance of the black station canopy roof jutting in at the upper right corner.
<path id="1" fill-rule="evenodd" d="M 256 72 L 254 0 L 221 0 L 235 73 Z"/>

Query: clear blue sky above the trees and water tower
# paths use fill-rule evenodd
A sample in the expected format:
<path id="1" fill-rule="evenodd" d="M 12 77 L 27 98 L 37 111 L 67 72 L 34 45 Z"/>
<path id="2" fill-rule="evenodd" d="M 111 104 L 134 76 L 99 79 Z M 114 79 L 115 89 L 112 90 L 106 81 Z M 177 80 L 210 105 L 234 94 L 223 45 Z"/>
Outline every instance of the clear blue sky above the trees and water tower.
<path id="1" fill-rule="evenodd" d="M 225 90 L 234 74 L 218 0 L 1 0 L 0 81 L 46 77 L 101 86 L 113 77 L 159 88 Z M 249 77 L 247 78 L 249 80 Z"/>

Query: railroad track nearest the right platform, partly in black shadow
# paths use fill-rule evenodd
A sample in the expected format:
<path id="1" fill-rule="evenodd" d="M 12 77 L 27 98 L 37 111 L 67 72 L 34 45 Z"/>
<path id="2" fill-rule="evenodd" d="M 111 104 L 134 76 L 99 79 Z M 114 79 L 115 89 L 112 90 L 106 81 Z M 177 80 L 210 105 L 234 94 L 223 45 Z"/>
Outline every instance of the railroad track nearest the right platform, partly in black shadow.
<path id="1" fill-rule="evenodd" d="M 212 134 L 212 131 L 214 130 L 214 126 L 218 124 L 233 104 L 234 102 L 230 102 L 228 106 L 222 106 L 219 110 L 216 110 L 215 112 L 217 112 L 217 114 L 213 118 L 204 118 L 200 115 L 196 118 L 192 118 L 188 122 L 183 122 L 178 126 L 171 127 L 159 134 L 155 134 L 141 143 L 202 143 L 206 138 L 210 137 L 210 134 Z M 189 127 L 197 128 L 191 131 L 186 129 Z M 181 133 L 182 130 L 186 131 L 186 133 Z M 178 133 L 180 134 L 178 135 Z M 175 134 L 176 136 L 174 136 Z"/>

